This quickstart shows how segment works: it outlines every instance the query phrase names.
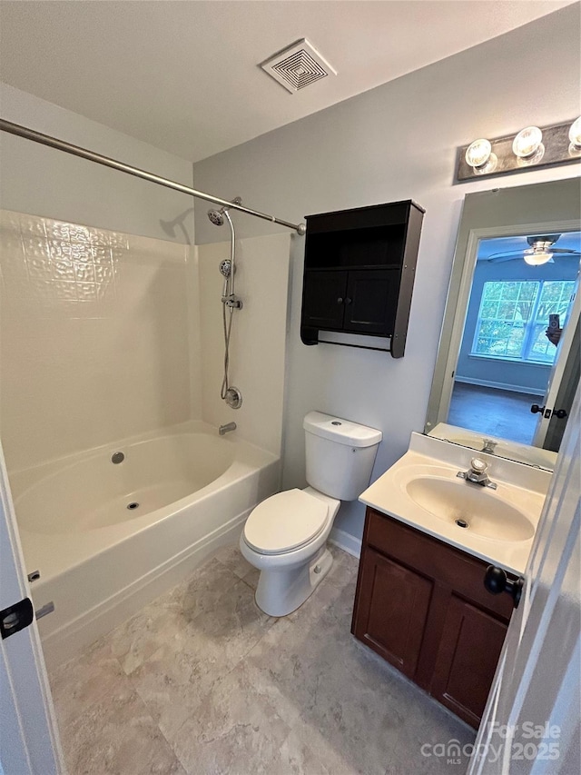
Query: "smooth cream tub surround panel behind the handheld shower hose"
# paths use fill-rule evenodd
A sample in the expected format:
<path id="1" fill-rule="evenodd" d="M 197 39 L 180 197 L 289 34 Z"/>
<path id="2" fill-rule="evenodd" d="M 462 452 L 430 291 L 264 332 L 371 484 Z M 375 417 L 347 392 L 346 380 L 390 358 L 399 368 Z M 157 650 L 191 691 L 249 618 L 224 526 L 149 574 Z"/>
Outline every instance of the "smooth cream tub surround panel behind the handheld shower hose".
<path id="1" fill-rule="evenodd" d="M 236 214 L 232 217 L 238 227 L 241 218 Z M 220 398 L 224 340 L 223 277 L 218 267 L 230 256 L 230 243 L 205 244 L 197 249 L 202 419 L 214 426 L 236 422 L 241 438 L 276 455 L 281 454 L 290 247 L 289 233 L 236 242 L 236 294 L 241 296 L 243 307 L 233 313 L 230 381 L 242 392 L 242 405 L 237 410 Z"/>

